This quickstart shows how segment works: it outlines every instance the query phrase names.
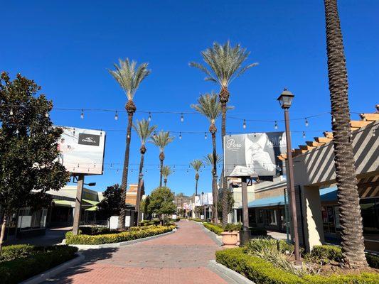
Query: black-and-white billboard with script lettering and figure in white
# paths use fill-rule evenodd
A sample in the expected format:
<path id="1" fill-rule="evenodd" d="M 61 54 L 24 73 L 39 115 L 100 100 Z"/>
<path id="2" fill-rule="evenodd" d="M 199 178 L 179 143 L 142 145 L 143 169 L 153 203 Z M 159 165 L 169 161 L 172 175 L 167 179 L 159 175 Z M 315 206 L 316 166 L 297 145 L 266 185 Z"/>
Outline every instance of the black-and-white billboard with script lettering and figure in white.
<path id="1" fill-rule="evenodd" d="M 277 155 L 286 153 L 284 132 L 248 133 L 224 136 L 226 177 L 274 177 L 284 175 Z"/>

